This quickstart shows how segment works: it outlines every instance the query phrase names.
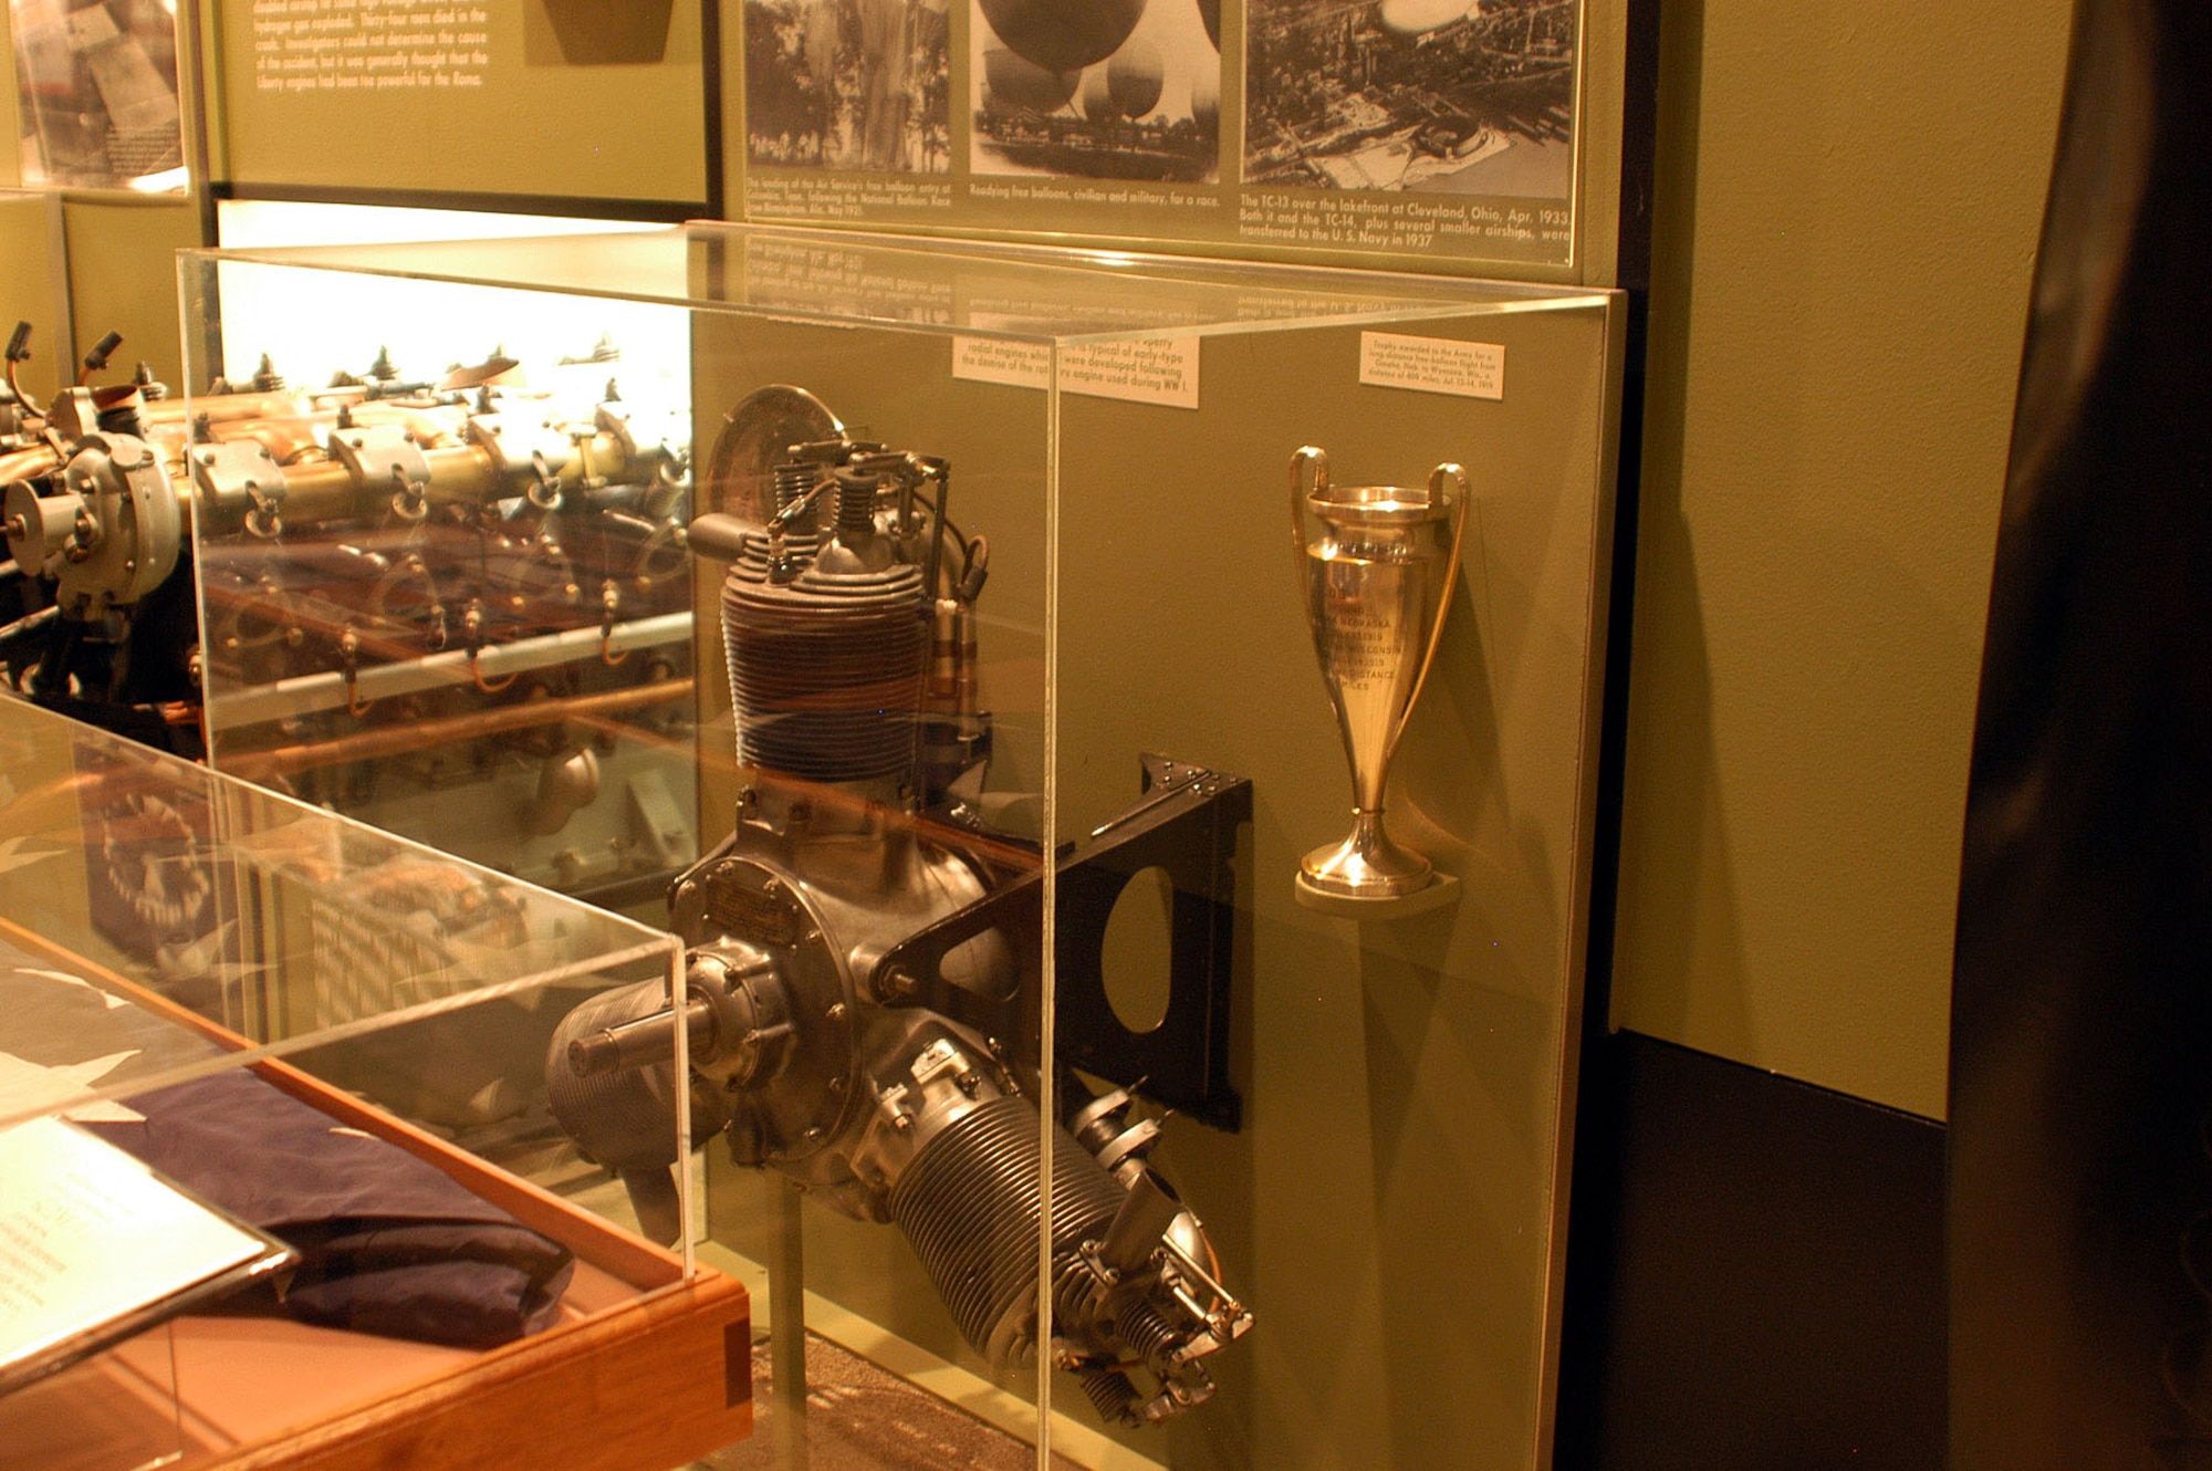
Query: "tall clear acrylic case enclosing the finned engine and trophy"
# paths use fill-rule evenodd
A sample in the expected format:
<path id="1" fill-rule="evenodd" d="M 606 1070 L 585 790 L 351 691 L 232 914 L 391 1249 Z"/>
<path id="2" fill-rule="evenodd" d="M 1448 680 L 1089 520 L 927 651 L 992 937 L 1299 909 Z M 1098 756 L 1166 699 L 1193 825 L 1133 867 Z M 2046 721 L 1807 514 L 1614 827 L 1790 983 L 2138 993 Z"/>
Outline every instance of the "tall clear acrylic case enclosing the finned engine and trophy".
<path id="1" fill-rule="evenodd" d="M 1548 1458 L 1617 294 L 690 226 L 184 301 L 212 763 L 675 929 L 774 1444 Z M 1356 770 L 1433 883 L 1298 878 Z"/>

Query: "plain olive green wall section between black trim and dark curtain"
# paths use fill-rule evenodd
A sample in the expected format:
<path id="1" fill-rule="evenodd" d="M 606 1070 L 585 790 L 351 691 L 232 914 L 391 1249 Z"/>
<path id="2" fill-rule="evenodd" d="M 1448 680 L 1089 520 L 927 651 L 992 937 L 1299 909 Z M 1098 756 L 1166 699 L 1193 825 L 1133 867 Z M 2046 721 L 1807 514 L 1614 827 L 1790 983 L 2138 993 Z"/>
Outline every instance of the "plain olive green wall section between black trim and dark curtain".
<path id="1" fill-rule="evenodd" d="M 1613 1020 L 1929 1117 L 2068 11 L 1661 13 Z"/>

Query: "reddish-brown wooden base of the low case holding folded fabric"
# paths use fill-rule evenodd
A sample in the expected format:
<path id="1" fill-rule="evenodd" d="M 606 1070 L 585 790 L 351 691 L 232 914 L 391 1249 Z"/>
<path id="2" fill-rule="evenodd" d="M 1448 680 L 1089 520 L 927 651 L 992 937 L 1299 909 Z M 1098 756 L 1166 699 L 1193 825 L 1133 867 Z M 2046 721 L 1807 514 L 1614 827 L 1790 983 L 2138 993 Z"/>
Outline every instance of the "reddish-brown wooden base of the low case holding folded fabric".
<path id="1" fill-rule="evenodd" d="M 0 920 L 0 933 L 223 1046 L 206 1018 L 86 967 Z M 283 1062 L 265 1082 L 418 1155 L 575 1252 L 562 1321 L 469 1352 L 279 1318 L 179 1318 L 0 1398 L 0 1460 L 55 1469 L 142 1464 L 181 1449 L 186 1471 L 666 1471 L 752 1431 L 752 1310 L 743 1283 L 577 1210 Z M 175 1400 L 170 1398 L 175 1385 Z M 175 1420 L 170 1409 L 175 1407 Z M 40 1447 L 15 1462 L 22 1447 Z"/>

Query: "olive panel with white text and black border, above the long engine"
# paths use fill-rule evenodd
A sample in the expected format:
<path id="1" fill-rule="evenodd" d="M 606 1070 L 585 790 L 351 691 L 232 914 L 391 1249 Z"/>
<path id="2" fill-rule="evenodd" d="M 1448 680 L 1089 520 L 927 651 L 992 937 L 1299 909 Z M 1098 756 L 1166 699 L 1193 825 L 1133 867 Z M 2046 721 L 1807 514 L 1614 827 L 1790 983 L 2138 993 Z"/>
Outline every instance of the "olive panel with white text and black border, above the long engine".
<path id="1" fill-rule="evenodd" d="M 239 195 L 703 210 L 699 0 L 221 0 Z"/>

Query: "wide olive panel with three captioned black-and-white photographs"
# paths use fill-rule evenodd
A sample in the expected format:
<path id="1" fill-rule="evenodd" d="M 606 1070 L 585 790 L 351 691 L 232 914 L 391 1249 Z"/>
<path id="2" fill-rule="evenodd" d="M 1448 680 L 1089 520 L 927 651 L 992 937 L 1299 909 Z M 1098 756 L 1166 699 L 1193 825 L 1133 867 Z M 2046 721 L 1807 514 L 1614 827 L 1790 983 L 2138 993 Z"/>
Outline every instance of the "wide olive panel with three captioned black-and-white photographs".
<path id="1" fill-rule="evenodd" d="M 754 221 L 1610 281 L 1608 0 L 721 0 Z"/>

